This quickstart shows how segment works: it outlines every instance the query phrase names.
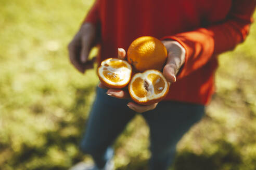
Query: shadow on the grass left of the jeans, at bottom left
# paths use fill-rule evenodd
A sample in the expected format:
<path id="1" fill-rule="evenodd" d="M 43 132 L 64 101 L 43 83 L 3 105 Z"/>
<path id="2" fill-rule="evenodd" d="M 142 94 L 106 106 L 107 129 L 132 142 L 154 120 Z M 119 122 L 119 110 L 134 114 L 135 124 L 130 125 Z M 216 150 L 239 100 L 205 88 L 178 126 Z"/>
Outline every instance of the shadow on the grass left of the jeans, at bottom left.
<path id="1" fill-rule="evenodd" d="M 49 148 L 55 148 L 62 153 L 65 158 L 67 157 L 68 146 L 72 145 L 76 150 L 78 149 L 84 132 L 84 127 L 86 126 L 88 108 L 92 102 L 87 98 L 90 98 L 88 96 L 93 94 L 94 89 L 94 86 L 75 88 L 76 93 L 73 105 L 66 110 L 66 115 L 68 116 L 72 114 L 72 119 L 56 119 L 54 122 L 56 127 L 55 129 L 41 133 L 39 132 L 40 136 L 45 140 L 44 144 L 33 146 L 31 144 L 23 143 L 21 144 L 21 149 L 18 152 L 12 151 L 11 160 L 6 160 L 5 163 L 10 167 L 16 167 L 19 169 L 58 170 L 68 169 L 70 165 L 82 161 L 84 159 L 84 155 L 81 152 L 76 151 L 75 154 L 66 158 L 70 163 L 52 163 L 50 161 L 51 157 L 49 157 L 50 153 L 48 151 Z M 34 163 L 35 165 L 31 166 L 34 161 L 36 162 Z M 2 169 L 1 166 L 0 169 Z"/>

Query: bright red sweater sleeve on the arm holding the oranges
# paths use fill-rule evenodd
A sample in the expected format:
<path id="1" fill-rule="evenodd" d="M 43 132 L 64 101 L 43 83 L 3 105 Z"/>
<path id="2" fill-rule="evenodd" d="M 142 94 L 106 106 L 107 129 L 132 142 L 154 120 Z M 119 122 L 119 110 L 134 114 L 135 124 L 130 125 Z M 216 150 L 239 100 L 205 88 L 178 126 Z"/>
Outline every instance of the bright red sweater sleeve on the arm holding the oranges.
<path id="1" fill-rule="evenodd" d="M 252 23 L 255 4 L 255 0 L 235 0 L 224 22 L 164 37 L 178 41 L 186 50 L 185 63 L 178 78 L 189 75 L 216 54 L 232 50 L 244 41 Z"/>

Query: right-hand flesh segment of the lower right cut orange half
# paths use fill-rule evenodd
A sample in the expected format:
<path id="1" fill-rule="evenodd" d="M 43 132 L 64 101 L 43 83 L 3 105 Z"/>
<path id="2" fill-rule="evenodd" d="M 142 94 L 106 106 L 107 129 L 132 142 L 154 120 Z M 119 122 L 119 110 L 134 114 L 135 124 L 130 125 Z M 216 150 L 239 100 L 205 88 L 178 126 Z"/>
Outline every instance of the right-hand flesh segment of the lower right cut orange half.
<path id="1" fill-rule="evenodd" d="M 163 91 L 165 83 L 162 77 L 157 74 L 149 74 L 147 78 L 152 82 L 155 94 L 159 94 Z"/>

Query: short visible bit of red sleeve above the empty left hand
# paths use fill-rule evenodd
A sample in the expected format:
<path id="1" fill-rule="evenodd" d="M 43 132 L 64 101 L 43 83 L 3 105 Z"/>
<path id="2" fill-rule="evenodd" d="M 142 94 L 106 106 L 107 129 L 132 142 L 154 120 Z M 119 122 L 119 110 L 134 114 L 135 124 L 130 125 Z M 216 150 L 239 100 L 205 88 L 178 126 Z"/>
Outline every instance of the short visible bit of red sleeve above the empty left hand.
<path id="1" fill-rule="evenodd" d="M 83 23 L 89 22 L 94 24 L 95 26 L 99 25 L 100 23 L 99 6 L 100 6 L 99 0 L 95 0 L 94 5 L 87 13 Z"/>

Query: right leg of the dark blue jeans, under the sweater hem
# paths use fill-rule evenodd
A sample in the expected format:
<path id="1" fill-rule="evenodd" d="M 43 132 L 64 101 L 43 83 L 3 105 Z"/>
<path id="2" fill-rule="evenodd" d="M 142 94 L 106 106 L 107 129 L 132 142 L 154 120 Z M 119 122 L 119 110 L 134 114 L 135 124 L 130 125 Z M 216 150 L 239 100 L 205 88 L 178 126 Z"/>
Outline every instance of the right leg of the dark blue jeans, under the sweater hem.
<path id="1" fill-rule="evenodd" d="M 142 115 L 150 129 L 150 170 L 165 170 L 174 160 L 178 141 L 204 115 L 204 106 L 163 101 Z"/>

